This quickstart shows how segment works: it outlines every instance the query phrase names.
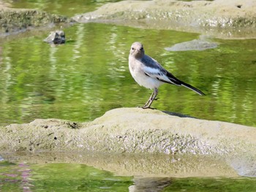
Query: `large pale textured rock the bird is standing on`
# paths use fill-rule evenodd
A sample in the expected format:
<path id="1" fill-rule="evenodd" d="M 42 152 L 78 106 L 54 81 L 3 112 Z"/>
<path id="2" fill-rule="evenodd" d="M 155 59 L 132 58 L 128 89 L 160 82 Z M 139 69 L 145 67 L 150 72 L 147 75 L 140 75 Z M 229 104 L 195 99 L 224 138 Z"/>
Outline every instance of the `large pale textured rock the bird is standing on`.
<path id="1" fill-rule="evenodd" d="M 0 130 L 2 152 L 203 155 L 227 162 L 239 174 L 256 176 L 256 128 L 233 123 L 121 108 L 89 123 L 34 120 Z"/>

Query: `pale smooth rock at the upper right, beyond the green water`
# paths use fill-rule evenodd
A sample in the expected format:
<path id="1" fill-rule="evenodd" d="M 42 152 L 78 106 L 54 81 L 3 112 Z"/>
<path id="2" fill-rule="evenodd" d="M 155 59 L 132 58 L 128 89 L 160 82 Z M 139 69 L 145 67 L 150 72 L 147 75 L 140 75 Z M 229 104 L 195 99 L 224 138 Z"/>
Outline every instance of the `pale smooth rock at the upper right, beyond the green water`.
<path id="1" fill-rule="evenodd" d="M 256 0 L 120 1 L 76 15 L 74 20 L 189 31 L 219 38 L 255 38 Z"/>

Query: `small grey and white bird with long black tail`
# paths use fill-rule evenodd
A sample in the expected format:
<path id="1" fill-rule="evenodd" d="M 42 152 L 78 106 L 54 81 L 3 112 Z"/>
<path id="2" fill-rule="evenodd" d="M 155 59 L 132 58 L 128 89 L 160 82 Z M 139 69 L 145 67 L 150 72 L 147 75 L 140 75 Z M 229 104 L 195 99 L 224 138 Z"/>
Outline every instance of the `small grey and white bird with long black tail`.
<path id="1" fill-rule="evenodd" d="M 145 88 L 154 89 L 153 93 L 149 97 L 146 104 L 142 107 L 143 109 L 154 109 L 151 108 L 151 104 L 154 100 L 157 100 L 158 88 L 164 83 L 171 85 L 184 86 L 189 88 L 200 96 L 204 96 L 205 93 L 199 89 L 187 84 L 178 78 L 174 77 L 173 74 L 163 68 L 157 60 L 151 58 L 145 54 L 143 45 L 140 42 L 132 43 L 129 50 L 129 72 L 132 77 L 140 86 Z"/>

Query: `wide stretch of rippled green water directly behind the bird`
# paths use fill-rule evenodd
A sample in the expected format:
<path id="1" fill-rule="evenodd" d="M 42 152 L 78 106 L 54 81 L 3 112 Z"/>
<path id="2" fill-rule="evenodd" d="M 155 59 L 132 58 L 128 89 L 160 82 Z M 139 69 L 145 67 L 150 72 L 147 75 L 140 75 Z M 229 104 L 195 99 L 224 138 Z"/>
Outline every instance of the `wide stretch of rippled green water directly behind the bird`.
<path id="1" fill-rule="evenodd" d="M 99 23 L 65 28 L 67 43 L 52 47 L 35 36 L 1 40 L 0 123 L 35 118 L 86 121 L 116 107 L 142 106 L 151 94 L 132 79 L 129 47 L 143 42 L 176 77 L 206 96 L 162 85 L 153 107 L 207 120 L 256 125 L 256 39 L 213 39 L 219 47 L 170 52 L 198 34 Z"/>

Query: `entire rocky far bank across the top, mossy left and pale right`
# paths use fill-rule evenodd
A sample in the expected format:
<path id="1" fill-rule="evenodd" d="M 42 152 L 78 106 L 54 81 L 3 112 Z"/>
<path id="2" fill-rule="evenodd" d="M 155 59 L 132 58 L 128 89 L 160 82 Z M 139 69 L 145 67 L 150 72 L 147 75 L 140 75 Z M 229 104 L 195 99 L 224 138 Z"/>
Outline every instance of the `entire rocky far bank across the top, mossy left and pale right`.
<path id="1" fill-rule="evenodd" d="M 221 39 L 252 39 L 256 38 L 255 7 L 256 0 L 119 1 L 67 18 L 36 9 L 12 9 L 0 1 L 0 34 L 77 21 L 187 31 Z"/>

